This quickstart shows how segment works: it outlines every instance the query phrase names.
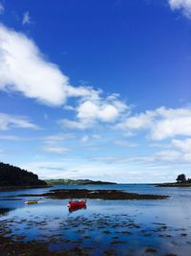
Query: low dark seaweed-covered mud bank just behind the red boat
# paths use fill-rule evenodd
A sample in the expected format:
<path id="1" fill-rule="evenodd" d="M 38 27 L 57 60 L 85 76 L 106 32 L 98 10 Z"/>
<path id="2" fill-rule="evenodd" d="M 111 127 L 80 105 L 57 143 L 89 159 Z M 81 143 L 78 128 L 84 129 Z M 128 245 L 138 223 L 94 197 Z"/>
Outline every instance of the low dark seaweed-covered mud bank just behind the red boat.
<path id="1" fill-rule="evenodd" d="M 161 195 L 144 195 L 136 193 L 127 193 L 118 190 L 86 190 L 86 189 L 62 189 L 51 190 L 45 194 L 35 195 L 19 195 L 18 197 L 45 197 L 55 199 L 67 198 L 90 198 L 90 199 L 107 199 L 107 200 L 126 200 L 126 199 L 165 199 L 168 196 Z"/>

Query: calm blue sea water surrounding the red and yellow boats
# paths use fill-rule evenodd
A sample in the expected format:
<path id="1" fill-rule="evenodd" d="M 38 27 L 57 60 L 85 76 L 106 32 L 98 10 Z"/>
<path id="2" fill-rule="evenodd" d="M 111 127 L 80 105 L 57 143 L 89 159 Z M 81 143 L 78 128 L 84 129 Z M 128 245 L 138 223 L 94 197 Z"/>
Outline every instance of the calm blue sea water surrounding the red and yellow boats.
<path id="1" fill-rule="evenodd" d="M 162 200 L 88 199 L 87 208 L 69 212 L 68 200 L 31 198 L 50 189 L 117 189 L 140 194 L 168 195 Z M 34 199 L 32 197 L 32 199 Z M 191 255 L 191 188 L 162 188 L 148 184 L 54 186 L 53 188 L 0 192 L 0 216 L 6 236 L 14 240 L 50 242 L 50 250 L 74 245 L 90 255 Z"/>

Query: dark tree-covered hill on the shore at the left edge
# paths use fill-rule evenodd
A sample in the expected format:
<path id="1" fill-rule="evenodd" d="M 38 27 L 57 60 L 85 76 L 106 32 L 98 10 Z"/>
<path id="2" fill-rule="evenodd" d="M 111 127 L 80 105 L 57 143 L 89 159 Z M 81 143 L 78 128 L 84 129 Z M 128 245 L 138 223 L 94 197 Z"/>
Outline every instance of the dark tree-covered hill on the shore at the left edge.
<path id="1" fill-rule="evenodd" d="M 0 162 L 0 186 L 41 186 L 47 185 L 38 175 L 19 167 Z"/>

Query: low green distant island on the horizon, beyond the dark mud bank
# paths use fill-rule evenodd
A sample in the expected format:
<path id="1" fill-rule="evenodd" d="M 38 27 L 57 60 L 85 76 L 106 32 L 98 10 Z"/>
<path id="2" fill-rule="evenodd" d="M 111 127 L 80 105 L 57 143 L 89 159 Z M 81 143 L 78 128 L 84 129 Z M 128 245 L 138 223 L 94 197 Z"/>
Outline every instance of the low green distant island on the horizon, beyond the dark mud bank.
<path id="1" fill-rule="evenodd" d="M 91 180 L 91 179 L 46 179 L 48 185 L 107 185 L 115 182 Z"/>

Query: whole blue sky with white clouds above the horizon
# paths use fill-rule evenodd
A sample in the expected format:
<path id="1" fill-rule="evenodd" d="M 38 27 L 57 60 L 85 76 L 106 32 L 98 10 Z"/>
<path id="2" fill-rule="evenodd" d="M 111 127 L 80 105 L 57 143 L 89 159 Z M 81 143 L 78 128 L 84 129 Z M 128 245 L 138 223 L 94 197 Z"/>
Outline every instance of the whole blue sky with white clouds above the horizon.
<path id="1" fill-rule="evenodd" d="M 191 177 L 191 0 L 0 0 L 0 161 Z"/>

